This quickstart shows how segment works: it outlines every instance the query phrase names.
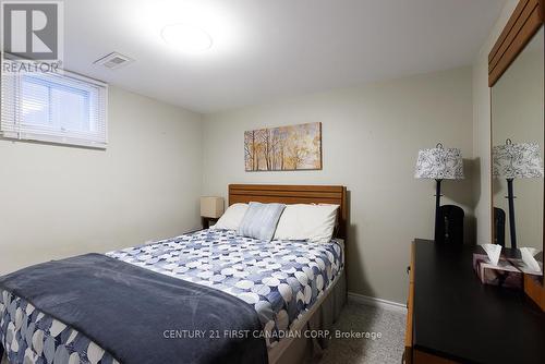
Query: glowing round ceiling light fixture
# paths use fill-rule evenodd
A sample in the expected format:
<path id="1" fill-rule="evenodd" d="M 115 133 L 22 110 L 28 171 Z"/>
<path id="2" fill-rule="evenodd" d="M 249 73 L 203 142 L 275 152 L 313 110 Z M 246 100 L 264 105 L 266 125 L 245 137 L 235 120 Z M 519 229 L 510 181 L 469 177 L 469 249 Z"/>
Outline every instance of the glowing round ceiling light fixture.
<path id="1" fill-rule="evenodd" d="M 203 52 L 211 47 L 211 37 L 197 26 L 185 23 L 167 25 L 161 31 L 165 41 L 185 52 Z"/>

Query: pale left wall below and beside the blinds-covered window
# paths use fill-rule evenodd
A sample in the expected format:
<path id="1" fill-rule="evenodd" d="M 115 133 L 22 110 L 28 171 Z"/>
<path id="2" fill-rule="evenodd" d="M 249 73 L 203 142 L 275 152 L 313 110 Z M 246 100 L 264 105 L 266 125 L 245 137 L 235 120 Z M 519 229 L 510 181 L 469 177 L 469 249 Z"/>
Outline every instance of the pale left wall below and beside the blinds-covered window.
<path id="1" fill-rule="evenodd" d="M 0 139 L 0 275 L 198 227 L 201 116 L 110 87 L 106 150 Z"/>

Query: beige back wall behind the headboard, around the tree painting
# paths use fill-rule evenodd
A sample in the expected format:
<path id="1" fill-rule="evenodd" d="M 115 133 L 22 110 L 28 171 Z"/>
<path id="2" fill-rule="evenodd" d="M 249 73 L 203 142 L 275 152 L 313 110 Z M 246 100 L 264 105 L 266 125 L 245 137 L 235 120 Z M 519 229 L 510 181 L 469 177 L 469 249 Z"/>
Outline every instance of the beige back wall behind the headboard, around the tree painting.
<path id="1" fill-rule="evenodd" d="M 204 194 L 226 195 L 229 183 L 347 185 L 349 290 L 405 302 L 410 243 L 434 231 L 435 182 L 413 178 L 416 155 L 443 142 L 472 156 L 471 69 L 301 96 L 204 121 Z M 323 123 L 323 170 L 244 171 L 244 131 L 305 122 Z M 465 208 L 473 240 L 471 168 L 467 174 L 467 181 L 445 182 L 444 203 Z"/>

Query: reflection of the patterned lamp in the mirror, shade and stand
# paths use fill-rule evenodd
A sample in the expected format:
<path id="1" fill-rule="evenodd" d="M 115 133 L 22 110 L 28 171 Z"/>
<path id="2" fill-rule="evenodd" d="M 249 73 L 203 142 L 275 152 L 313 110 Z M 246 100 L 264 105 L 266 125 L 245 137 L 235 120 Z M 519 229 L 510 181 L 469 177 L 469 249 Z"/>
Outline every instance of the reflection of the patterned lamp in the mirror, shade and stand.
<path id="1" fill-rule="evenodd" d="M 543 178 L 543 160 L 537 143 L 512 143 L 507 139 L 505 145 L 492 149 L 492 174 L 505 178 L 507 181 L 507 201 L 509 203 L 509 232 L 511 247 L 517 248 L 517 229 L 514 223 L 514 179 Z"/>

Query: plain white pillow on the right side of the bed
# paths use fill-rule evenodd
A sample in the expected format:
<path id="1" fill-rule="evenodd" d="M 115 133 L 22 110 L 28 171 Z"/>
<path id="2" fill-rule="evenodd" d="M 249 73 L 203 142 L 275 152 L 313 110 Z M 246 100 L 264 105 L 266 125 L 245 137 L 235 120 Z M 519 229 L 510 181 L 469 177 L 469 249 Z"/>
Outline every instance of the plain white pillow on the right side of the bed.
<path id="1" fill-rule="evenodd" d="M 339 205 L 287 205 L 274 239 L 329 243 L 334 235 L 338 208 Z"/>

